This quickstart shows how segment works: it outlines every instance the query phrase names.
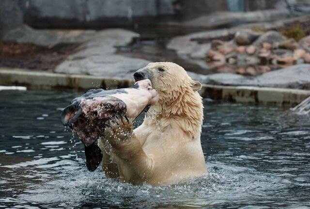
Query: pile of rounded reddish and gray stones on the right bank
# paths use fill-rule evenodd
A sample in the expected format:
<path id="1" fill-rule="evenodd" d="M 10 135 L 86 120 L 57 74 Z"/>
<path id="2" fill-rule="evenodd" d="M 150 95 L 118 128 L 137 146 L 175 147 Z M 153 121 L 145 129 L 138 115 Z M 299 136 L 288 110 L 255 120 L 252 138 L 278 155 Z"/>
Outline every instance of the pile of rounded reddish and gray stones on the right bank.
<path id="1" fill-rule="evenodd" d="M 217 72 L 259 75 L 294 64 L 310 63 L 310 36 L 296 42 L 281 33 L 236 32 L 230 41 L 212 40 L 206 54 Z"/>

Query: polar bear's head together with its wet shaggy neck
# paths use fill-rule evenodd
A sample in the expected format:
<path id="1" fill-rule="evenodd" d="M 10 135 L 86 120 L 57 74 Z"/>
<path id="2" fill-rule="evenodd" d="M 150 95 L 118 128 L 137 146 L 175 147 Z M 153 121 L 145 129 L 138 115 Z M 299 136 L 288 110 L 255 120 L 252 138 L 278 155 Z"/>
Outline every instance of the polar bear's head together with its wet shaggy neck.
<path id="1" fill-rule="evenodd" d="M 183 67 L 166 62 L 150 63 L 138 70 L 134 78 L 136 81 L 151 80 L 159 95 L 144 123 L 155 123 L 157 128 L 160 127 L 158 129 L 163 130 L 173 120 L 193 139 L 200 138 L 203 118 L 202 97 L 197 92 L 202 87 L 200 82 L 192 80 Z"/>

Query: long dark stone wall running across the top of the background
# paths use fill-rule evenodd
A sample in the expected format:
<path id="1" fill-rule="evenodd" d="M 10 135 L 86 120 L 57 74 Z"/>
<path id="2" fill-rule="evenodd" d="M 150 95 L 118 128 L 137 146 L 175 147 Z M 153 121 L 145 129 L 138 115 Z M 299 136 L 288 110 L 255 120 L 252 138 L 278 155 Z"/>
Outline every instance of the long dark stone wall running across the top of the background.
<path id="1" fill-rule="evenodd" d="M 237 10 L 250 11 L 280 0 L 234 1 L 244 5 Z M 154 26 L 228 9 L 228 0 L 0 0 L 0 38 L 23 23 L 41 29 Z"/>

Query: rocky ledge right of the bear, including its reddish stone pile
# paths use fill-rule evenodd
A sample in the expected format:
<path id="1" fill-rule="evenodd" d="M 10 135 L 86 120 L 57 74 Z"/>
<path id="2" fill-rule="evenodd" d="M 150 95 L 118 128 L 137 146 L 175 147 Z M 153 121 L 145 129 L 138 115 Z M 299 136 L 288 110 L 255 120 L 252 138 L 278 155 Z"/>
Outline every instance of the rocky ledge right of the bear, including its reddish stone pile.
<path id="1" fill-rule="evenodd" d="M 205 84 L 310 89 L 310 36 L 233 28 L 175 37 L 167 48 L 205 68 L 210 75 L 189 72 Z"/>

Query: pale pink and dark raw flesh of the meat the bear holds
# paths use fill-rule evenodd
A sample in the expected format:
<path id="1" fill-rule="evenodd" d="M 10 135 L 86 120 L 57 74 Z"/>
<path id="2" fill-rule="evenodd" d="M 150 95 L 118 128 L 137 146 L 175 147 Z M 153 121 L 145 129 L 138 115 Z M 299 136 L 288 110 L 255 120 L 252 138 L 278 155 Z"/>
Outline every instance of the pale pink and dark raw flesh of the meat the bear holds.
<path id="1" fill-rule="evenodd" d="M 135 119 L 148 105 L 158 101 L 150 80 L 137 81 L 137 85 L 138 88 L 123 89 L 124 93 L 80 100 L 82 113 L 72 122 L 72 129 L 86 146 L 103 136 L 106 122 L 114 115 L 126 114 Z"/>

